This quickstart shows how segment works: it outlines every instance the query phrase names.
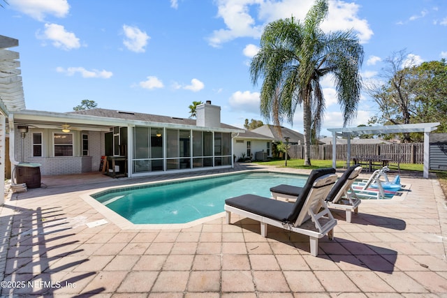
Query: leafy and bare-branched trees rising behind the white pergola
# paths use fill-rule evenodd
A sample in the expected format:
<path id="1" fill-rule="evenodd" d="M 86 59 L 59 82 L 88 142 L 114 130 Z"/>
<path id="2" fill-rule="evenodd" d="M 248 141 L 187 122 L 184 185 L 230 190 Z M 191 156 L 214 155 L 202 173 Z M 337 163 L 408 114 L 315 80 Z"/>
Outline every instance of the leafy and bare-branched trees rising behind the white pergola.
<path id="1" fill-rule="evenodd" d="M 411 124 L 441 122 L 447 131 L 447 64 L 441 61 L 416 65 L 405 50 L 393 53 L 381 70 L 383 82 L 367 84 L 367 93 L 379 106 L 371 123 Z M 419 141 L 420 135 L 404 133 L 402 142 Z"/>

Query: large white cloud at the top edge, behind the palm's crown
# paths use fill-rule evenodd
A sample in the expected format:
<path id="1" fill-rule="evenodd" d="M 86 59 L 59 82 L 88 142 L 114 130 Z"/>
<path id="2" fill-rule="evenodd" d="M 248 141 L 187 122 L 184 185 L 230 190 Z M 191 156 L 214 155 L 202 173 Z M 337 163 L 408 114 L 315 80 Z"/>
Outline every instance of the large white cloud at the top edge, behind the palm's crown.
<path id="1" fill-rule="evenodd" d="M 362 43 L 371 38 L 373 31 L 367 20 L 358 17 L 358 4 L 341 0 L 329 3 L 328 18 L 321 24 L 321 29 L 327 32 L 354 29 Z M 214 30 L 208 41 L 213 47 L 219 47 L 235 38 L 259 38 L 269 22 L 292 15 L 304 20 L 313 4 L 313 0 L 219 0 L 217 17 L 223 19 L 226 28 Z M 250 14 L 251 11 L 256 11 L 257 15 Z"/>

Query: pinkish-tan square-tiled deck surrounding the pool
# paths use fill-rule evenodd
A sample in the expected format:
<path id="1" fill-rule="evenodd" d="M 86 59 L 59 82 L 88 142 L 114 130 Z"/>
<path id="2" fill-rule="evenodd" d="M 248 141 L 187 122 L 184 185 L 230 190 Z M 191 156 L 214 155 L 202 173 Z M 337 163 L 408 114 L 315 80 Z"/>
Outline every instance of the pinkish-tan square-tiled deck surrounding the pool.
<path id="1" fill-rule="evenodd" d="M 1 296 L 447 297 L 447 207 L 436 179 L 402 173 L 407 191 L 362 201 L 353 223 L 332 211 L 335 239 L 319 241 L 318 257 L 308 237 L 269 227 L 263 238 L 258 223 L 236 215 L 231 225 L 217 217 L 189 228 L 122 228 L 83 199 L 110 186 L 261 168 L 44 176 L 45 188 L 0 207 Z"/>

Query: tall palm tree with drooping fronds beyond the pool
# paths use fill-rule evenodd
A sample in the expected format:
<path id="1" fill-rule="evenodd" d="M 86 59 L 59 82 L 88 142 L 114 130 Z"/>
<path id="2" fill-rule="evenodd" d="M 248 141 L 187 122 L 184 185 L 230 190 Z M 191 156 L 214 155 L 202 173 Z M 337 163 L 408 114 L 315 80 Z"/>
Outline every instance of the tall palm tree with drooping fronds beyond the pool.
<path id="1" fill-rule="evenodd" d="M 321 22 L 328 14 L 328 1 L 317 0 L 304 22 L 294 17 L 271 22 L 261 36 L 261 50 L 250 65 L 251 82 L 263 77 L 261 113 L 281 126 L 293 124 L 293 114 L 302 105 L 305 135 L 305 165 L 310 162 L 312 131 L 319 133 L 325 111 L 320 79 L 333 75 L 343 125 L 356 117 L 360 101 L 363 47 L 349 31 L 324 33 Z"/>

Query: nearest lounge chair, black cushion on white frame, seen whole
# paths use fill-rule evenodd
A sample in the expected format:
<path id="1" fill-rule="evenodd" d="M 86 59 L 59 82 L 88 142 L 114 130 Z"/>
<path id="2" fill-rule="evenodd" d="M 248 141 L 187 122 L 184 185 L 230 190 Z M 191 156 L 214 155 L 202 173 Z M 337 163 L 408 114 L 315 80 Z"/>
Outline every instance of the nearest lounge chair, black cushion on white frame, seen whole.
<path id="1" fill-rule="evenodd" d="M 263 237 L 267 237 L 267 225 L 305 234 L 310 238 L 310 253 L 316 256 L 318 239 L 328 234 L 332 240 L 337 225 L 337 220 L 324 202 L 336 180 L 337 175 L 332 167 L 312 170 L 302 193 L 293 204 L 251 194 L 227 199 L 224 207 L 226 223 L 230 224 L 231 213 L 235 213 L 259 221 Z"/>

